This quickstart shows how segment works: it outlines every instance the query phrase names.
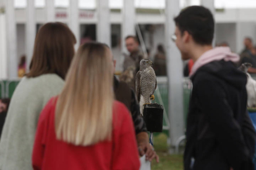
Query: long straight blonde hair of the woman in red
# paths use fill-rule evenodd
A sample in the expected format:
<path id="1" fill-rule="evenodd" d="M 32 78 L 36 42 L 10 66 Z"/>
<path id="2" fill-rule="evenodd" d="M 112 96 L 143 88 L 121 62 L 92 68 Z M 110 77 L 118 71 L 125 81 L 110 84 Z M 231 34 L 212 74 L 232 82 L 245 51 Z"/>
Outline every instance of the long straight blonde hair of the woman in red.
<path id="1" fill-rule="evenodd" d="M 79 47 L 56 105 L 57 139 L 74 145 L 93 145 L 111 138 L 113 119 L 113 62 L 105 44 Z"/>

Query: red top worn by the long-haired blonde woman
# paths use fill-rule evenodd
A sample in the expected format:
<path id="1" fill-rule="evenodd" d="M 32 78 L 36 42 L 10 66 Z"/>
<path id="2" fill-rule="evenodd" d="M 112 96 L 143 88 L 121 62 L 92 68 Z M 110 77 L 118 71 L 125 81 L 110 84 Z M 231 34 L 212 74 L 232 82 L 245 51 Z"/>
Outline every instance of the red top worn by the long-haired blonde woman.
<path id="1" fill-rule="evenodd" d="M 139 153 L 132 118 L 127 108 L 114 102 L 111 141 L 82 147 L 56 139 L 56 100 L 49 100 L 41 112 L 33 148 L 33 169 L 139 169 Z"/>

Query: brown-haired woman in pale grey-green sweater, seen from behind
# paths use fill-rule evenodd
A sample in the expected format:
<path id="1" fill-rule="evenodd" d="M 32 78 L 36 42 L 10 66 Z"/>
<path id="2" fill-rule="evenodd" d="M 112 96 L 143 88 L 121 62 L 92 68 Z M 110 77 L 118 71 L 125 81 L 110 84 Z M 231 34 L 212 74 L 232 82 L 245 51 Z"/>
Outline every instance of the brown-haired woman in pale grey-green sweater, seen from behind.
<path id="1" fill-rule="evenodd" d="M 1 170 L 30 170 L 38 118 L 64 86 L 75 36 L 64 23 L 46 23 L 36 34 L 30 71 L 16 87 L 2 130 Z"/>

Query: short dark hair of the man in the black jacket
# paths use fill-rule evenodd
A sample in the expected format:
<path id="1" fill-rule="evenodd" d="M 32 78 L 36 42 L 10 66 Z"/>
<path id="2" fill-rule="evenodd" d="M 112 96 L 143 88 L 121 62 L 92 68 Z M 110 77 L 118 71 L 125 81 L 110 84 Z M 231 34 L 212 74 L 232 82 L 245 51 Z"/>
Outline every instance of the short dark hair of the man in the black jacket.
<path id="1" fill-rule="evenodd" d="M 210 45 L 212 43 L 215 21 L 209 9 L 202 6 L 187 7 L 174 18 L 174 22 L 182 34 L 184 31 L 189 32 L 197 44 Z"/>

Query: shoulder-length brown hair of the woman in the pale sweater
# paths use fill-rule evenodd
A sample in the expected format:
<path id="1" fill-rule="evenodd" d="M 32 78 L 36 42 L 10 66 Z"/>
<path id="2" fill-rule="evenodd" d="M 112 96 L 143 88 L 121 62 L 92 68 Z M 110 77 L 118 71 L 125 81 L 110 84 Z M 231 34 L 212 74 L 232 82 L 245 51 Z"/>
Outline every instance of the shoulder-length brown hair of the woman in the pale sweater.
<path id="1" fill-rule="evenodd" d="M 55 73 L 65 79 L 74 56 L 76 39 L 72 31 L 60 22 L 43 25 L 35 39 L 28 78 Z"/>

